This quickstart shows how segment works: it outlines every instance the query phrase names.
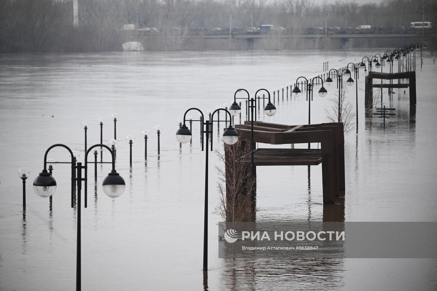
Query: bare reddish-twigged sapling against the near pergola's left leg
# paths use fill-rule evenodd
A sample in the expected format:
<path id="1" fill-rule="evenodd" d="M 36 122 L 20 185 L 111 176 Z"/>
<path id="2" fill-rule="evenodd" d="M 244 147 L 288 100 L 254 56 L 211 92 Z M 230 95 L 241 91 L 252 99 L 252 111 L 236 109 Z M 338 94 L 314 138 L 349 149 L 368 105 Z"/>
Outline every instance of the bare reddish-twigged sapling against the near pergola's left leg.
<path id="1" fill-rule="evenodd" d="M 225 222 L 242 222 L 249 219 L 250 193 L 254 190 L 256 180 L 251 180 L 248 171 L 247 157 L 250 155 L 250 145 L 237 142 L 226 145 L 227 154 L 215 150 L 223 166 L 215 166 L 218 172 L 217 190 L 219 202 L 215 213 Z"/>

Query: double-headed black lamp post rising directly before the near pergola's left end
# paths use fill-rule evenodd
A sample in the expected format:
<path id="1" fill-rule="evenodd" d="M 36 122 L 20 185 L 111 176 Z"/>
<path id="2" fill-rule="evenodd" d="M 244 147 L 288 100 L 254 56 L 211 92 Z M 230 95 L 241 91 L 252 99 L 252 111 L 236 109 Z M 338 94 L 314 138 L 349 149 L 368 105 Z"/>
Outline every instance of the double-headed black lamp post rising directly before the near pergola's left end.
<path id="1" fill-rule="evenodd" d="M 266 105 L 266 107 L 264 107 L 264 113 L 267 116 L 273 116 L 276 113 L 276 107 L 274 106 L 274 104 L 271 103 L 270 101 L 270 92 L 266 89 L 259 89 L 257 90 L 257 92 L 255 93 L 255 98 L 250 98 L 250 94 L 247 90 L 245 89 L 238 89 L 235 91 L 234 93 L 234 102 L 232 103 L 232 105 L 229 107 L 229 112 L 231 115 L 236 116 L 238 114 L 240 114 L 241 112 L 241 107 L 237 104 L 236 100 L 237 99 L 246 99 L 246 101 L 249 102 L 249 108 L 250 108 L 250 123 L 251 123 L 251 128 L 250 128 L 250 148 L 252 149 L 250 152 L 250 175 L 252 177 L 252 180 L 255 179 L 255 163 L 253 162 L 253 151 L 255 150 L 255 142 L 253 142 L 253 121 L 256 120 L 256 113 L 257 113 L 257 98 L 258 99 L 263 99 L 264 97 L 259 97 L 258 96 L 258 92 L 264 90 L 267 92 L 268 94 L 268 103 Z M 237 93 L 239 91 L 244 91 L 247 94 L 247 97 L 238 97 L 237 98 Z M 250 194 L 250 207 L 252 211 L 255 211 L 255 192 L 252 189 L 252 193 Z"/>

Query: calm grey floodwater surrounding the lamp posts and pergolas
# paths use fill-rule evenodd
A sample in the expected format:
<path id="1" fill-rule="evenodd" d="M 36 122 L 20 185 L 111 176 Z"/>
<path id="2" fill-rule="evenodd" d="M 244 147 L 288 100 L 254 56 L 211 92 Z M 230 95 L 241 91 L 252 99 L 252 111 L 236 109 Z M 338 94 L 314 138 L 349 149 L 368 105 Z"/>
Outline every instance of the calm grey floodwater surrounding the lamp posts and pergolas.
<path id="1" fill-rule="evenodd" d="M 112 139 L 112 113 L 120 115 L 116 169 L 126 190 L 115 200 L 107 197 L 101 182 L 110 166 L 97 167 L 96 184 L 89 167 L 88 208 L 82 209 L 83 290 L 437 289 L 437 261 L 431 259 L 218 259 L 220 218 L 213 213 L 218 159 L 213 153 L 208 273 L 202 272 L 205 152 L 198 123 L 192 144 L 180 148 L 174 136 L 177 118 L 190 107 L 206 114 L 208 108 L 230 103 L 238 88 L 253 96 L 259 88 L 274 90 L 298 76 L 323 73 L 325 61 L 330 69 L 338 68 L 384 51 L 1 55 L 0 290 L 74 290 L 76 209 L 70 208 L 70 168 L 58 164 L 53 171 L 58 187 L 51 208 L 31 185 L 52 144 L 69 145 L 83 161 L 82 121 L 90 121 L 88 145 L 100 142 L 99 117 L 106 119 L 104 142 Z M 307 166 L 259 167 L 257 220 L 437 221 L 437 66 L 432 57 L 424 58 L 422 70 L 419 57 L 417 65 L 416 112 L 410 110 L 408 89 L 406 94 L 394 89 L 392 100 L 384 90 L 383 104 L 396 108 L 385 129 L 382 119 L 364 118 L 364 77 L 358 80 L 359 128 L 346 136 L 344 200 L 323 206 L 321 165 L 311 166 L 310 173 Z M 315 94 L 311 103 L 312 123 L 327 121 L 325 108 L 333 105 L 329 97 L 336 88 L 326 89 L 328 97 Z M 355 85 L 347 96 L 355 108 Z M 308 122 L 305 97 L 275 103 L 277 114 L 260 120 Z M 163 127 L 160 156 L 156 125 Z M 152 132 L 146 163 L 144 129 Z M 220 149 L 217 125 L 214 130 L 214 147 Z M 136 137 L 132 168 L 128 134 Z M 104 160 L 109 157 L 103 153 Z M 48 158 L 68 161 L 69 154 L 58 148 Z M 25 213 L 17 177 L 24 166 L 31 171 Z"/>

